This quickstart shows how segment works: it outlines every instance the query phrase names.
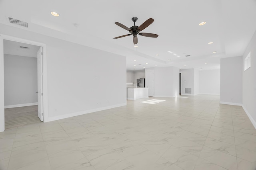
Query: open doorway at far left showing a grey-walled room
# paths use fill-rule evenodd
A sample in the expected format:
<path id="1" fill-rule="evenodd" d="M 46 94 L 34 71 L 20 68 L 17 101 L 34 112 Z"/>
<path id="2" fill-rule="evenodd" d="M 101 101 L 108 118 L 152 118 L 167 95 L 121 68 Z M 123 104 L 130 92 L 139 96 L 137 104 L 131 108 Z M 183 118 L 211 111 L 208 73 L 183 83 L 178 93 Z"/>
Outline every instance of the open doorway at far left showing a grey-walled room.
<path id="1" fill-rule="evenodd" d="M 4 40 L 5 129 L 41 122 L 40 73 L 42 47 Z M 39 79 L 39 80 L 38 80 Z M 39 117 L 39 118 L 38 118 Z M 43 120 L 43 119 L 42 119 Z"/>

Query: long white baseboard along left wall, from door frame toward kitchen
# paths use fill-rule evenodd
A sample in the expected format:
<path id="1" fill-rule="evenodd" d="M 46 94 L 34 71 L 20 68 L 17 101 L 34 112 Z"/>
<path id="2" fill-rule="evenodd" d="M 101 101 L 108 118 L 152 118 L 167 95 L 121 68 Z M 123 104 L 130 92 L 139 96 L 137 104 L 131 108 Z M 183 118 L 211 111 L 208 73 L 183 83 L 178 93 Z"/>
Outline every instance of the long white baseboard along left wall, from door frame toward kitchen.
<path id="1" fill-rule="evenodd" d="M 74 117 L 74 116 L 84 115 L 84 114 L 92 113 L 92 112 L 96 112 L 96 111 L 102 111 L 102 110 L 106 110 L 106 109 L 112 109 L 112 108 L 115 108 L 115 107 L 126 106 L 126 105 L 127 105 L 127 103 L 122 103 L 122 104 L 117 104 L 117 105 L 112 105 L 112 106 L 107 106 L 107 107 L 100 107 L 100 108 L 96 108 L 96 109 L 90 109 L 90 110 L 85 110 L 85 111 L 78 111 L 78 112 L 69 113 L 69 114 L 66 114 L 66 115 L 48 117 L 47 122 L 49 122 L 49 121 L 55 121 L 55 120 L 60 120 L 60 119 L 65 119 L 65 118 L 68 118 L 68 117 Z"/>

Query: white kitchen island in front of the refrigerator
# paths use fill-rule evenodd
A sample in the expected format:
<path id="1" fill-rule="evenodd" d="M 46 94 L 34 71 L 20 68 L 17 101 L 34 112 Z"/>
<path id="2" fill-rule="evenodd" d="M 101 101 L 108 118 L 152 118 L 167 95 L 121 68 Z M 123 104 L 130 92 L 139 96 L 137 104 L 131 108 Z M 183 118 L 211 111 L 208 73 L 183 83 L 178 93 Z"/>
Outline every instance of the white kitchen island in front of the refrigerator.
<path id="1" fill-rule="evenodd" d="M 128 100 L 148 98 L 148 88 L 128 87 L 126 89 L 126 98 Z"/>

